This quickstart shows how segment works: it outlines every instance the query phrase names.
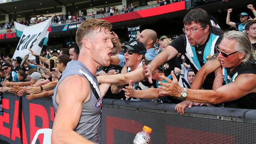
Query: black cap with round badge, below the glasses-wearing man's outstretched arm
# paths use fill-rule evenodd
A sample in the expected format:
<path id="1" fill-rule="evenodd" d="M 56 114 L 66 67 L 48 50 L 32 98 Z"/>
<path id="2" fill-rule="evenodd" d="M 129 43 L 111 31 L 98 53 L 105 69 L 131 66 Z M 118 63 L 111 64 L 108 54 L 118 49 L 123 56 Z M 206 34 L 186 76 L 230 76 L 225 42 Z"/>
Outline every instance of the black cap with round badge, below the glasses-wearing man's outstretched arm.
<path id="1" fill-rule="evenodd" d="M 145 62 L 145 65 L 148 65 L 151 61 L 143 61 Z M 160 70 L 165 74 L 165 76 L 169 76 L 171 74 L 171 71 L 174 70 L 174 59 L 170 59 L 169 61 L 163 63 L 160 65 L 157 69 Z"/>

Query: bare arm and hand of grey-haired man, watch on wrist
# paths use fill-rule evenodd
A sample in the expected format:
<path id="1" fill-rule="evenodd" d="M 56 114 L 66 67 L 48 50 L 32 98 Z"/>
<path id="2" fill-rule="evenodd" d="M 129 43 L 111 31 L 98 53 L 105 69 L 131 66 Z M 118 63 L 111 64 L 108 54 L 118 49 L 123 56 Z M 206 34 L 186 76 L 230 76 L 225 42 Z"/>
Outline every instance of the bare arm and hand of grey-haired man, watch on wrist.
<path id="1" fill-rule="evenodd" d="M 172 72 L 172 75 L 173 72 Z M 160 94 L 169 94 L 171 96 L 180 97 L 182 87 L 178 85 L 178 80 L 174 77 L 173 81 L 166 77 L 162 77 L 167 83 L 160 82 L 165 87 L 159 87 L 165 91 Z M 256 74 L 240 74 L 236 81 L 228 83 L 217 90 L 193 90 L 187 89 L 187 100 L 198 103 L 223 103 L 237 100 L 246 94 L 256 92 Z M 168 91 L 167 91 L 168 90 Z"/>

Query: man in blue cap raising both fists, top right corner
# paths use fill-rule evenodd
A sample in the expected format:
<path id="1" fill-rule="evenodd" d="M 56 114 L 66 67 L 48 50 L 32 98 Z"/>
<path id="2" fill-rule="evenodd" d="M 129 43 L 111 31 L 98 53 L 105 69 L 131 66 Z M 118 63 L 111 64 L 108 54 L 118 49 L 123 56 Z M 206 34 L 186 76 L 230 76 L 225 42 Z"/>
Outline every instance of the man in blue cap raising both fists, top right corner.
<path id="1" fill-rule="evenodd" d="M 255 9 L 253 8 L 252 4 L 249 4 L 247 7 L 252 10 L 252 12 L 254 13 L 254 17 L 256 17 L 256 12 L 255 12 Z M 226 24 L 232 26 L 233 28 L 236 28 L 238 31 L 243 31 L 243 33 L 246 33 L 245 26 L 248 22 L 248 14 L 243 12 L 238 15 L 241 23 L 231 22 L 230 21 L 230 13 L 232 12 L 232 10 L 233 9 L 228 9 L 228 14 L 226 17 Z"/>

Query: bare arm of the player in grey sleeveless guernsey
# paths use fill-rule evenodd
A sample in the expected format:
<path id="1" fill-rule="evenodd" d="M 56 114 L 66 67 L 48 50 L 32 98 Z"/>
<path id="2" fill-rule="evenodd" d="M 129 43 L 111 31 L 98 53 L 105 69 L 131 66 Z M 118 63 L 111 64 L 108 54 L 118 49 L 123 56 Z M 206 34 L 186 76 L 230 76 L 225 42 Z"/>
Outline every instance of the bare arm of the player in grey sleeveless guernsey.
<path id="1" fill-rule="evenodd" d="M 93 144 L 73 129 L 77 126 L 82 104 L 90 98 L 90 86 L 82 76 L 69 76 L 58 87 L 59 107 L 52 127 L 52 144 Z"/>

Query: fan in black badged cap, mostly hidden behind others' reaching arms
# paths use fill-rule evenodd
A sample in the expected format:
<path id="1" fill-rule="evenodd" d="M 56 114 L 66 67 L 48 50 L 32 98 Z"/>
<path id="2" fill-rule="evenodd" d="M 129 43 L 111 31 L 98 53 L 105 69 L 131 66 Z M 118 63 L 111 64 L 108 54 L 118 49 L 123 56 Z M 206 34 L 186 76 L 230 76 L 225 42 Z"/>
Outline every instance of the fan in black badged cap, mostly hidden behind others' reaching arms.
<path id="1" fill-rule="evenodd" d="M 150 63 L 150 61 L 144 61 L 145 65 Z M 180 103 L 181 100 L 177 100 L 175 97 L 159 94 L 159 91 L 163 91 L 161 89 L 158 89 L 158 81 L 161 81 L 163 83 L 166 83 L 161 76 L 166 76 L 169 79 L 173 79 L 171 75 L 171 71 L 174 70 L 175 67 L 175 61 L 173 59 L 163 63 L 161 66 L 159 66 L 154 72 L 152 73 L 152 79 L 156 80 L 156 83 L 154 83 L 154 88 L 149 88 L 146 90 L 134 90 L 132 89 L 132 80 L 129 81 L 129 86 L 126 86 L 125 89 L 122 89 L 125 91 L 126 98 L 143 98 L 143 99 L 156 99 L 160 98 L 163 103 Z M 178 79 L 178 83 L 181 87 L 190 88 L 189 83 L 178 74 L 178 72 L 174 71 L 174 74 L 176 78 Z"/>

